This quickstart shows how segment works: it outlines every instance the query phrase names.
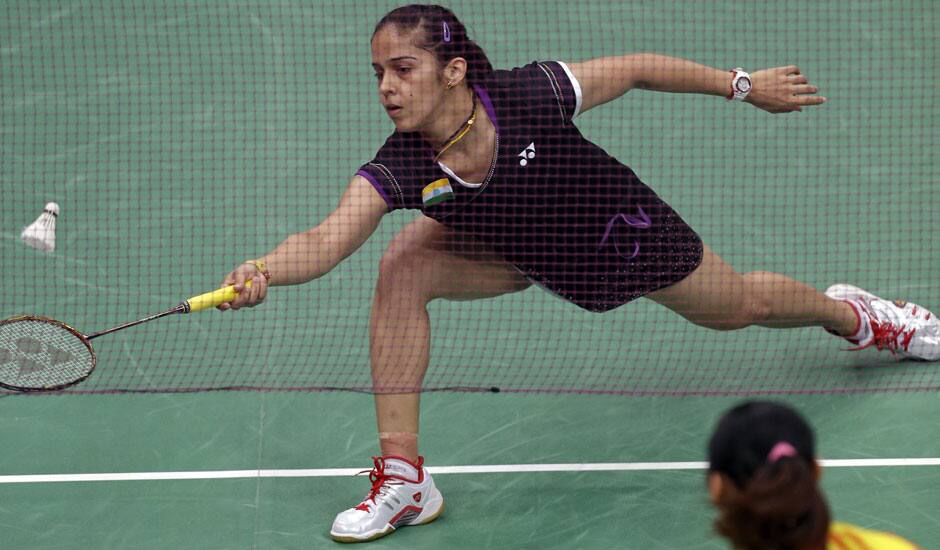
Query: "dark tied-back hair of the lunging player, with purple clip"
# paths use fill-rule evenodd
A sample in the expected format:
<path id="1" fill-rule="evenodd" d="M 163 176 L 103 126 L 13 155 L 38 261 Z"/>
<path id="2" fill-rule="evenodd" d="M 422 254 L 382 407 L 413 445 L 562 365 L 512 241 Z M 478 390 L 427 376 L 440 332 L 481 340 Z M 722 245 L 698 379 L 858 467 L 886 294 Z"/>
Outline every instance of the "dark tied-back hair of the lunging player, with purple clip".
<path id="1" fill-rule="evenodd" d="M 493 71 L 486 52 L 470 37 L 467 28 L 452 11 L 431 4 L 410 4 L 395 8 L 375 26 L 375 35 L 388 25 L 404 32 L 415 32 L 415 45 L 428 50 L 443 67 L 455 57 L 467 60 L 467 84 L 481 82 Z"/>

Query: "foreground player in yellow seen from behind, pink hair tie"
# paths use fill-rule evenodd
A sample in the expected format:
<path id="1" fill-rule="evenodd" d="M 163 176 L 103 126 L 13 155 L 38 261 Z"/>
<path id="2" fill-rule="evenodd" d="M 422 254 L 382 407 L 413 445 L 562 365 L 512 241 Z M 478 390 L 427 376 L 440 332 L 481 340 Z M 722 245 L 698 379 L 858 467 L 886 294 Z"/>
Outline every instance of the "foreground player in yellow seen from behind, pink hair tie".
<path id="1" fill-rule="evenodd" d="M 737 550 L 917 550 L 907 540 L 830 519 L 813 429 L 792 408 L 742 403 L 708 444 L 715 528 Z"/>

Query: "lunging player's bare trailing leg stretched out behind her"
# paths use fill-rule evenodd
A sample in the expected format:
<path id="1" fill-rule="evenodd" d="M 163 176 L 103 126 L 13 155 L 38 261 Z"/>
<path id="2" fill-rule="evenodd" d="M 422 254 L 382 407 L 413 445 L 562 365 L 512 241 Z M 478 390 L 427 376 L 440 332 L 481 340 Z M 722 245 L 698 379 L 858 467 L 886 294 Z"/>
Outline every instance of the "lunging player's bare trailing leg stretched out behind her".
<path id="1" fill-rule="evenodd" d="M 777 273 L 737 273 L 707 246 L 698 269 L 647 298 L 717 330 L 821 326 L 845 336 L 858 330 L 858 317 L 846 303 Z"/>

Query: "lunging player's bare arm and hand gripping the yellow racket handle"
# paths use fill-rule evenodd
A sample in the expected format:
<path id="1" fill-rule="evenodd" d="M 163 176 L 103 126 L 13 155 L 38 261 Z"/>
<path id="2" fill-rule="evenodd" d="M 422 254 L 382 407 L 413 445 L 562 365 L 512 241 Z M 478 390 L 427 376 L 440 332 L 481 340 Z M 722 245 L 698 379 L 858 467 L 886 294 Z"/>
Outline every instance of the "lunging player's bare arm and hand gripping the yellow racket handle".
<path id="1" fill-rule="evenodd" d="M 309 231 L 287 237 L 258 259 L 267 268 L 270 281 L 250 263 L 229 273 L 222 286 L 235 285 L 239 294 L 219 309 L 253 306 L 264 300 L 269 284 L 294 285 L 326 275 L 362 246 L 386 212 L 388 206 L 372 184 L 362 176 L 353 177 L 339 206 L 326 219 Z M 246 288 L 248 280 L 252 285 Z"/>

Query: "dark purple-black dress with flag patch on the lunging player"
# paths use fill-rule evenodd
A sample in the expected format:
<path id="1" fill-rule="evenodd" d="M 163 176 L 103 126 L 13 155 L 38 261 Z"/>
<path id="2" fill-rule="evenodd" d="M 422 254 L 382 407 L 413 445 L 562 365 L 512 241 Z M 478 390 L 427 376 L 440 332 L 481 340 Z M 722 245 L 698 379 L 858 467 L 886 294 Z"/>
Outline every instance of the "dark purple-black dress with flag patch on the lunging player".
<path id="1" fill-rule="evenodd" d="M 496 127 L 486 179 L 462 181 L 417 134 L 392 134 L 358 174 L 390 210 L 420 209 L 488 243 L 531 281 L 602 312 L 675 284 L 702 241 L 629 167 L 574 126 L 581 90 L 560 62 L 475 86 Z"/>

